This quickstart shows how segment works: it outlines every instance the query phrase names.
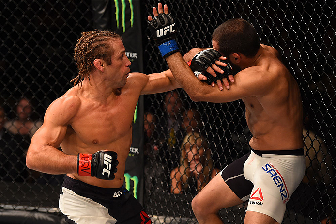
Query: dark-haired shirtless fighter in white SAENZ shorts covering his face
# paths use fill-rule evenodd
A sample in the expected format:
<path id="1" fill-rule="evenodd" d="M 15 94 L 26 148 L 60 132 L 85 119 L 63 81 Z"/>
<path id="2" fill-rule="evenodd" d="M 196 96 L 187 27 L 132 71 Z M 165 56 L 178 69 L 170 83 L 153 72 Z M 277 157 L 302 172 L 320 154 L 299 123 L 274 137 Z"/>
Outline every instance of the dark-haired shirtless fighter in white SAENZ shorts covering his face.
<path id="1" fill-rule="evenodd" d="M 153 7 L 153 16 L 148 16 L 148 25 L 159 49 L 176 49 L 173 31 L 177 26 L 168 6 Z M 157 33 L 165 29 L 167 33 L 158 37 Z M 250 155 L 226 167 L 223 178 L 214 176 L 194 197 L 192 209 L 199 224 L 219 224 L 224 223 L 218 215 L 220 209 L 250 199 L 244 224 L 280 224 L 286 203 L 305 173 L 299 85 L 281 62 L 279 52 L 261 44 L 256 29 L 242 18 L 219 25 L 212 34 L 212 45 L 212 49 L 193 48 L 183 57 L 175 52 L 165 59 L 192 100 L 228 103 L 241 99 L 252 134 L 249 145 L 258 151 L 252 150 Z M 221 78 L 228 69 L 227 64 L 218 62 L 222 56 L 235 74 L 233 79 L 226 72 L 230 83 Z M 185 63 L 189 61 L 190 67 Z M 213 62 L 224 67 L 220 69 Z M 200 82 L 195 78 L 195 74 L 200 77 L 199 72 L 205 74 L 205 79 L 217 77 L 218 86 L 222 83 L 226 88 Z M 226 114 L 225 110 L 220 113 Z M 226 116 L 221 119 L 229 121 Z"/>

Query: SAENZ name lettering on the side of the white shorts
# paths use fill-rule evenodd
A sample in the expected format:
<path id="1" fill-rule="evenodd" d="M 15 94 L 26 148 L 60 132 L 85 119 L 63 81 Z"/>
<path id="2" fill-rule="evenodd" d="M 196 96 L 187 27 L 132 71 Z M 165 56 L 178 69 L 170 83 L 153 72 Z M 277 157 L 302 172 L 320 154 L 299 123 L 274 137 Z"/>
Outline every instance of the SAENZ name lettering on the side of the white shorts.
<path id="1" fill-rule="evenodd" d="M 290 195 L 288 193 L 284 178 L 271 162 L 266 163 L 265 167 L 261 168 L 273 179 L 273 182 L 278 187 L 280 192 L 281 200 L 283 201 L 283 204 L 285 204 L 288 201 Z"/>

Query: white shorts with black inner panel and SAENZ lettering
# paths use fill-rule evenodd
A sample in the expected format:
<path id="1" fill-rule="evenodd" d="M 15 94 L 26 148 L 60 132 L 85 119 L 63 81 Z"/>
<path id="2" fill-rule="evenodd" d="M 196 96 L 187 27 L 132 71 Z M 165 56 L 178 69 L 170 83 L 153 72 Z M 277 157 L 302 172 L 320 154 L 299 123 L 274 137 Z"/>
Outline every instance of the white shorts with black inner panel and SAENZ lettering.
<path id="1" fill-rule="evenodd" d="M 256 211 L 282 222 L 286 204 L 305 175 L 303 148 L 251 152 L 226 166 L 220 175 L 229 188 Z"/>

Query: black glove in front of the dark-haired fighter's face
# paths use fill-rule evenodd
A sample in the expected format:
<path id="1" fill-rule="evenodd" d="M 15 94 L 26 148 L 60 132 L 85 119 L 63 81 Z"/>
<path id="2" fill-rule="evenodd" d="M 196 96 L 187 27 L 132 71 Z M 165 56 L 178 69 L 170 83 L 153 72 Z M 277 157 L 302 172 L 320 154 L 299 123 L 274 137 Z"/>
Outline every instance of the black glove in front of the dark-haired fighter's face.
<path id="1" fill-rule="evenodd" d="M 212 82 L 216 82 L 217 80 L 222 80 L 223 78 L 228 78 L 228 75 L 232 75 L 231 65 L 229 65 L 225 60 L 218 60 L 220 56 L 222 55 L 214 49 L 207 49 L 207 50 L 200 51 L 191 60 L 190 68 L 194 72 L 196 77 L 198 77 L 199 74 L 202 73 L 207 78 L 205 82 L 208 85 L 211 85 Z M 208 67 L 214 64 L 216 60 L 220 62 L 224 62 L 228 65 L 226 67 L 217 65 L 220 69 L 224 71 L 224 73 L 222 74 L 217 71 L 214 71 L 217 75 L 216 77 L 214 77 L 213 75 L 208 73 L 206 70 Z"/>

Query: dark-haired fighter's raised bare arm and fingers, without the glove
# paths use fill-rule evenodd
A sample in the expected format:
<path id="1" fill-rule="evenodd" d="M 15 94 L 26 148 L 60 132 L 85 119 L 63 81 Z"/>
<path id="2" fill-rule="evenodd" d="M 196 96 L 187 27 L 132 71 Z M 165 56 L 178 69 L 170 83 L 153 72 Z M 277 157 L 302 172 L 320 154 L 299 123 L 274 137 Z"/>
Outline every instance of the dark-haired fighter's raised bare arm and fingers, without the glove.
<path id="1" fill-rule="evenodd" d="M 158 5 L 159 14 L 168 14 L 168 6 L 162 8 L 162 4 Z M 157 17 L 159 14 L 155 7 L 153 7 L 153 14 Z M 152 25 L 152 18 L 148 16 L 149 24 Z M 151 20 L 152 19 L 152 20 Z M 168 23 L 171 21 L 168 21 Z M 169 23 L 170 24 L 170 23 Z M 165 24 L 167 26 L 167 24 Z M 152 26 L 152 35 L 155 35 L 155 27 Z M 170 35 L 170 36 L 169 36 Z M 165 41 L 173 42 L 175 38 L 172 34 L 167 34 L 164 36 Z M 160 40 L 158 40 L 160 41 Z M 167 43 L 168 43 L 167 42 Z M 167 49 L 167 48 L 166 48 Z M 263 79 L 262 74 L 253 68 L 246 68 L 235 76 L 235 82 L 228 89 L 224 88 L 220 91 L 217 88 L 212 88 L 211 86 L 199 82 L 199 80 L 194 76 L 189 66 L 183 60 L 180 52 L 176 52 L 176 46 L 171 48 L 170 53 L 163 55 L 168 63 L 169 68 L 172 71 L 177 82 L 180 86 L 187 92 L 190 98 L 194 101 L 208 101 L 208 102 L 231 102 L 237 99 L 241 99 L 247 96 L 260 96 L 269 91 L 270 85 L 268 82 L 272 82 L 272 79 Z M 262 85 L 260 85 L 262 83 Z"/>

